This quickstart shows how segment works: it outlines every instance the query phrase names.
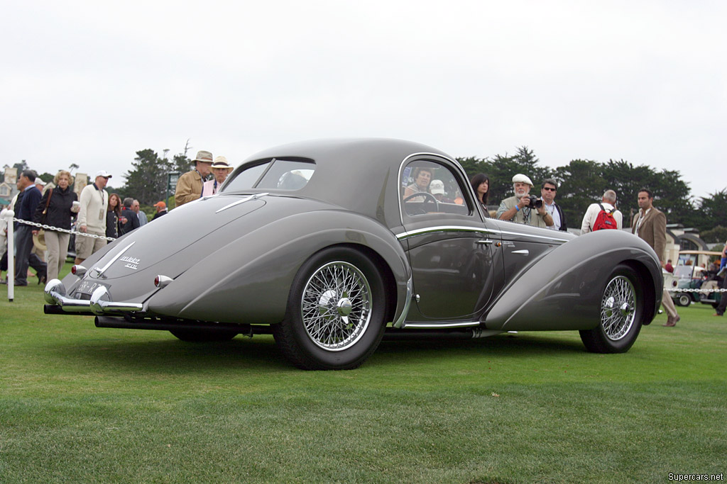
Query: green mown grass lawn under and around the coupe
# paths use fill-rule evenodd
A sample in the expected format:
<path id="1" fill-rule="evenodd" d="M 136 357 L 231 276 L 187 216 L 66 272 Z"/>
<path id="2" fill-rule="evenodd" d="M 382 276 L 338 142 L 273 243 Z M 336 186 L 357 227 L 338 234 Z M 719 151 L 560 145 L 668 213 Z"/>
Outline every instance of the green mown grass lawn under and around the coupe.
<path id="1" fill-rule="evenodd" d="M 0 295 L 0 483 L 669 482 L 727 472 L 727 320 L 620 355 L 576 332 L 382 343 L 302 372 L 272 337 L 182 343 Z"/>

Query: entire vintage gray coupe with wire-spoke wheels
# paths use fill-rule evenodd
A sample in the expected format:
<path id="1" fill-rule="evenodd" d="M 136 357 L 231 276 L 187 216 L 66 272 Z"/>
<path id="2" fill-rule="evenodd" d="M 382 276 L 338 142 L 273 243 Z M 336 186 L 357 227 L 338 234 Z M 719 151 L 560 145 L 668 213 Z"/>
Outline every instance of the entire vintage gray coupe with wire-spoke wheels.
<path id="1" fill-rule="evenodd" d="M 416 188 L 422 171 L 435 194 Z M 382 337 L 573 329 L 590 351 L 624 352 L 661 297 L 638 237 L 486 218 L 449 155 L 339 139 L 249 157 L 219 194 L 50 281 L 45 312 L 186 341 L 272 333 L 300 368 L 352 369 Z"/>

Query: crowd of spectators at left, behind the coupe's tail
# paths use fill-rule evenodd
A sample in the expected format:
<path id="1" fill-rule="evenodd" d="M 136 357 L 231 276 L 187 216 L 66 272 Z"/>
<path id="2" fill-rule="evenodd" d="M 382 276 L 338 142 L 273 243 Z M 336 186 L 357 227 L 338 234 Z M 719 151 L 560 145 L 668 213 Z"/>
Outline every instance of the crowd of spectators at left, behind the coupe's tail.
<path id="1" fill-rule="evenodd" d="M 212 153 L 200 151 L 193 160 L 194 169 L 183 174 L 178 183 L 175 199 L 178 205 L 216 194 L 233 166 L 223 156 L 212 158 Z M 212 175 L 209 181 L 207 178 Z M 69 248 L 75 250 L 75 263 L 83 263 L 93 253 L 103 248 L 108 239 L 116 239 L 149 223 L 140 209 L 139 200 L 107 192 L 106 185 L 111 173 L 99 171 L 93 182 L 79 194 L 73 191 L 73 176 L 59 171 L 53 181 L 44 183 L 32 170 L 24 170 L 17 179 L 18 194 L 7 210 L 15 211 L 15 286 L 28 285 L 29 268 L 36 271 L 38 284 L 57 279 L 68 257 Z M 156 214 L 152 221 L 167 213 L 166 202 L 156 202 Z M 38 226 L 23 221 L 49 226 Z M 7 220 L 0 218 L 0 282 L 7 272 Z M 75 230 L 73 230 L 75 229 Z M 73 232 L 73 234 L 72 234 Z M 71 240 L 73 235 L 74 241 Z M 38 247 L 45 245 L 45 250 Z"/>

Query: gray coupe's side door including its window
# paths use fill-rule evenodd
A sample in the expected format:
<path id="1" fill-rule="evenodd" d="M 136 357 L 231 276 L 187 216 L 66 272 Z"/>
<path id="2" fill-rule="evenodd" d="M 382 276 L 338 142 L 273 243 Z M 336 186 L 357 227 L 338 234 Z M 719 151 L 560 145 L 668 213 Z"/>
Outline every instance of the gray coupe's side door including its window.
<path id="1" fill-rule="evenodd" d="M 400 181 L 400 239 L 406 240 L 417 308 L 407 321 L 474 321 L 501 274 L 493 258 L 499 231 L 488 227 L 462 168 L 450 160 L 413 157 Z"/>

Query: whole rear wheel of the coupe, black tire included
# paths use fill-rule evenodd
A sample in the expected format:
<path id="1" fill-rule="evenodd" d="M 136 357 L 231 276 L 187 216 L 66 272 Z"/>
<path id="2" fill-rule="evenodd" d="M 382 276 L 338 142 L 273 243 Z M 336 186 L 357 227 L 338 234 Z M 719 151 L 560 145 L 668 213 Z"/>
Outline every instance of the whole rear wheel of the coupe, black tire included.
<path id="1" fill-rule="evenodd" d="M 381 342 L 387 311 L 377 263 L 351 247 L 329 247 L 298 269 L 288 312 L 273 324 L 273 336 L 299 368 L 352 369 Z"/>

